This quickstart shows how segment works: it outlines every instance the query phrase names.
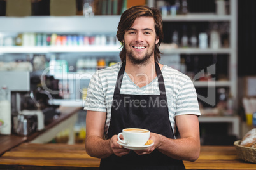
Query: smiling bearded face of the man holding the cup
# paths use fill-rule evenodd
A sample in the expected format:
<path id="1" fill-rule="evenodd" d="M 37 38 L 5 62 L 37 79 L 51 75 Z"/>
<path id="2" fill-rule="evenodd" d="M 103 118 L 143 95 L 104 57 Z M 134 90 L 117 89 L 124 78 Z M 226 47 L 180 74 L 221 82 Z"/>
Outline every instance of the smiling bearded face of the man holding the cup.
<path id="1" fill-rule="evenodd" d="M 153 57 L 155 44 L 159 39 L 155 34 L 155 22 L 152 17 L 136 18 L 131 28 L 124 34 L 126 58 L 134 64 L 145 64 Z"/>

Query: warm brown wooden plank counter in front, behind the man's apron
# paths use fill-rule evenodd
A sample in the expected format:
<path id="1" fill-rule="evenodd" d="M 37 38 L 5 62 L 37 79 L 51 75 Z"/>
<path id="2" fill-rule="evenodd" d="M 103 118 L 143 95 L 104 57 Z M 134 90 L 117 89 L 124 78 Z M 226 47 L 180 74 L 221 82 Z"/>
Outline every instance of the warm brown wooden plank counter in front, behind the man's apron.
<path id="1" fill-rule="evenodd" d="M 83 144 L 23 143 L 0 157 L 0 169 L 99 169 L 99 162 Z M 256 169 L 239 160 L 233 146 L 202 146 L 199 159 L 184 164 L 186 169 Z"/>

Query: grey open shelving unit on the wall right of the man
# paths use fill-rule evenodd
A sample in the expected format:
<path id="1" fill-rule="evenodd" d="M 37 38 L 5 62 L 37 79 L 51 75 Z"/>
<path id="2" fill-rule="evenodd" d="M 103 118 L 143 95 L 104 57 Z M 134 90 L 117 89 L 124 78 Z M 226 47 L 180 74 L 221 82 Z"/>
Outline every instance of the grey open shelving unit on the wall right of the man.
<path id="1" fill-rule="evenodd" d="M 197 1 L 198 2 L 198 1 Z M 188 1 L 188 3 L 192 3 L 192 1 Z M 173 35 L 173 30 L 170 29 L 175 27 L 175 25 L 186 25 L 189 26 L 193 25 L 194 23 L 198 25 L 203 25 L 202 23 L 211 24 L 211 23 L 217 23 L 222 25 L 222 23 L 227 23 L 229 25 L 229 36 L 228 36 L 228 46 L 220 46 L 220 48 L 211 48 L 209 46 L 209 39 L 208 39 L 208 48 L 198 48 L 198 47 L 178 47 L 178 48 L 171 48 L 170 44 L 162 44 L 162 48 L 160 46 L 160 51 L 163 53 L 163 55 L 166 55 L 167 57 L 171 58 L 173 55 L 180 55 L 180 56 L 190 56 L 190 55 L 200 55 L 201 59 L 212 57 L 212 56 L 219 56 L 219 58 L 226 57 L 227 62 L 226 65 L 222 65 L 222 67 L 226 67 L 227 69 L 227 79 L 207 79 L 206 81 L 199 81 L 199 77 L 195 76 L 193 77 L 193 82 L 196 87 L 196 89 L 199 88 L 208 88 L 216 90 L 218 88 L 225 88 L 228 89 L 229 93 L 234 96 L 235 100 L 238 96 L 238 74 L 237 74 L 237 57 L 238 57 L 238 50 L 237 50 L 237 20 L 238 20 L 238 13 L 237 13 L 237 4 L 238 2 L 236 0 L 229 0 L 225 1 L 225 3 L 228 3 L 229 13 L 225 15 L 217 15 L 216 13 L 187 13 L 186 15 L 176 15 L 171 16 L 170 14 L 162 16 L 164 27 L 166 25 L 171 25 L 171 27 L 168 27 L 168 29 L 165 28 L 165 34 L 171 34 Z M 204 6 L 200 6 L 201 8 L 204 8 Z M 181 24 L 182 23 L 182 24 Z M 204 27 L 204 25 L 203 25 Z M 180 32 L 182 32 L 182 27 L 176 27 L 175 29 L 180 28 Z M 197 28 L 196 28 L 197 29 Z M 220 28 L 222 29 L 222 28 Z M 200 30 L 200 28 L 198 29 Z M 202 31 L 202 29 L 201 29 Z M 206 30 L 203 30 L 206 31 Z M 180 33 L 179 32 L 179 33 Z M 208 34 L 209 36 L 209 34 Z M 181 38 L 181 36 L 180 36 Z M 210 37 L 208 37 L 210 38 Z M 171 36 L 169 36 L 169 39 L 171 39 Z M 169 40 L 166 40 L 167 43 L 171 42 Z M 205 68 L 209 65 L 205 65 Z M 215 66 L 215 72 L 218 71 L 220 68 L 220 65 L 218 67 Z M 200 70 L 197 70 L 198 72 Z M 211 90 L 210 89 L 210 90 Z M 210 95 L 210 93 L 206 94 Z M 217 95 L 217 91 L 213 93 L 213 97 Z M 199 95 L 198 95 L 199 96 Z M 200 96 L 199 96 L 200 97 Z M 209 96 L 207 96 L 209 97 Z M 206 101 L 207 102 L 207 101 Z M 234 103 L 234 109 L 236 109 L 236 102 Z M 212 105 L 213 107 L 216 107 L 215 105 Z M 202 110 L 203 111 L 203 110 Z M 238 116 L 201 116 L 199 117 L 199 122 L 201 123 L 226 123 L 229 124 L 228 128 L 228 134 L 236 136 L 236 138 L 240 138 L 240 119 Z"/>

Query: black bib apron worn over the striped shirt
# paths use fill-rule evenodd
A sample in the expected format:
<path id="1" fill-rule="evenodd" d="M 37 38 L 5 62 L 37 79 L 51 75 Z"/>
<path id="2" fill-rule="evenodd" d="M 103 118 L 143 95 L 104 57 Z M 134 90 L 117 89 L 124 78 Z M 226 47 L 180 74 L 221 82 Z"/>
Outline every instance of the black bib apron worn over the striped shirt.
<path id="1" fill-rule="evenodd" d="M 108 139 L 122 132 L 124 128 L 148 129 L 153 133 L 174 139 L 169 121 L 164 79 L 157 63 L 155 63 L 155 70 L 160 95 L 124 95 L 120 94 L 125 71 L 125 62 L 122 63 L 113 95 Z M 141 105 L 138 105 L 138 101 L 141 101 Z M 117 107 L 115 102 L 120 102 L 120 105 Z M 101 159 L 100 169 L 185 169 L 185 166 L 181 160 L 167 157 L 158 150 L 145 155 L 137 155 L 131 150 L 129 154 L 122 157 L 113 154 Z"/>

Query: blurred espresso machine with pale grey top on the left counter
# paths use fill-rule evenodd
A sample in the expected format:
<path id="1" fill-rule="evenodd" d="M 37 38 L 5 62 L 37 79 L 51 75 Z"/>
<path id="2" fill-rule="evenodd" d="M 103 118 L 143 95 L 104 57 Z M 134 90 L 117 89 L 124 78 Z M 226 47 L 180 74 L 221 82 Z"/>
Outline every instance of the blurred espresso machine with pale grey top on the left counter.
<path id="1" fill-rule="evenodd" d="M 29 71 L 4 71 L 0 72 L 0 80 L 0 87 L 6 86 L 8 89 L 12 133 L 29 136 L 34 131 L 43 130 L 45 124 L 59 117 L 60 112 L 56 109 L 59 105 L 50 102 L 53 100 L 52 94 L 36 86 L 41 82 L 38 75 L 32 75 Z"/>

